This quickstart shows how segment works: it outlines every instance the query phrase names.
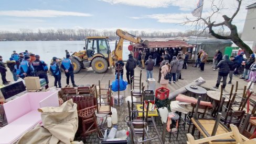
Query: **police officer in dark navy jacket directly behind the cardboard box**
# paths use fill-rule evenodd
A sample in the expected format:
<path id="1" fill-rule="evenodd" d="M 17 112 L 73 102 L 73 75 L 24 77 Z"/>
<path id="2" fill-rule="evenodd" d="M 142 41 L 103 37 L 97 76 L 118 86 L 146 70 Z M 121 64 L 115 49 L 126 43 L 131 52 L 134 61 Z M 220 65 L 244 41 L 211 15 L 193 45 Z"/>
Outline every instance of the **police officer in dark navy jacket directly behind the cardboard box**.
<path id="1" fill-rule="evenodd" d="M 35 55 L 35 57 L 36 57 L 36 60 L 32 62 L 32 65 L 35 69 L 36 76 L 39 78 L 44 78 L 46 81 L 46 84 L 48 84 L 49 83 L 48 76 L 47 76 L 48 67 L 44 61 L 40 60 L 39 55 Z"/>

